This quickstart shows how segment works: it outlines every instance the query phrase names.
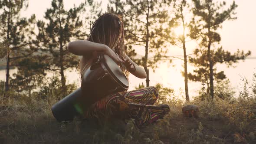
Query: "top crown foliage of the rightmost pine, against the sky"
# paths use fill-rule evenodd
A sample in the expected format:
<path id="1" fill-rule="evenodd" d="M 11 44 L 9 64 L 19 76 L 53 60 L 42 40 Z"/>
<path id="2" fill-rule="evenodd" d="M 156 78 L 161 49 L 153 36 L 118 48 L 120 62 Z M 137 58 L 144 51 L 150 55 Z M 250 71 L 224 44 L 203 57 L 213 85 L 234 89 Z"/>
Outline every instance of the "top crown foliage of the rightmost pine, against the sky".
<path id="1" fill-rule="evenodd" d="M 236 20 L 235 10 L 237 5 L 235 1 L 230 5 L 229 8 L 223 10 L 226 7 L 226 2 L 216 2 L 214 0 L 193 0 L 194 9 L 192 10 L 195 16 L 198 16 L 197 29 L 201 30 L 201 33 L 198 33 L 201 36 L 205 36 L 201 44 L 207 47 L 207 36 L 211 39 L 211 43 L 220 41 L 220 34 L 216 32 L 217 29 L 221 27 L 221 24 L 225 20 Z M 194 19 L 195 20 L 195 19 Z M 210 33 L 208 32 L 210 28 Z M 195 30 L 197 30 L 195 29 Z M 193 30 L 193 29 L 191 29 Z M 206 40 L 206 41 L 205 41 Z"/>

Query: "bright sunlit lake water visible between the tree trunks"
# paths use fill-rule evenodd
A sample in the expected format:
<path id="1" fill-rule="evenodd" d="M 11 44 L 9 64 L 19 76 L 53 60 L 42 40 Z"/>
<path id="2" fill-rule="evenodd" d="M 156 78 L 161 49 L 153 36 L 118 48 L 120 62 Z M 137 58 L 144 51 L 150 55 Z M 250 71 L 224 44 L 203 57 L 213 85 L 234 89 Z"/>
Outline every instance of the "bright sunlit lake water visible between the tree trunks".
<path id="1" fill-rule="evenodd" d="M 181 70 L 183 69 L 183 61 L 174 60 L 172 63 L 161 62 L 159 63 L 159 68 L 149 71 L 150 85 L 155 85 L 157 83 L 163 84 L 164 87 L 170 87 L 175 90 L 175 95 L 180 98 L 184 98 L 184 77 L 181 75 Z M 246 59 L 244 62 L 240 61 L 235 64 L 236 67 L 227 68 L 226 65 L 217 65 L 217 71 L 224 71 L 226 77 L 230 79 L 231 85 L 236 90 L 236 96 L 242 89 L 243 82 L 241 81 L 241 76 L 246 77 L 248 80 L 253 78 L 253 72 L 256 72 L 256 59 Z M 10 69 L 10 75 L 15 73 L 16 69 Z M 188 65 L 188 71 L 192 72 L 193 67 Z M 53 73 L 48 73 L 47 76 L 52 76 Z M 75 82 L 80 85 L 79 72 L 75 69 L 67 69 L 65 72 L 67 83 Z M 5 79 L 5 70 L 0 70 L 0 80 Z M 135 86 L 138 86 L 142 82 L 145 84 L 145 79 L 139 79 L 134 75 L 129 75 L 130 86 L 128 90 L 133 90 Z M 197 95 L 197 91 L 202 88 L 200 82 L 189 82 L 189 94 L 190 97 Z"/>

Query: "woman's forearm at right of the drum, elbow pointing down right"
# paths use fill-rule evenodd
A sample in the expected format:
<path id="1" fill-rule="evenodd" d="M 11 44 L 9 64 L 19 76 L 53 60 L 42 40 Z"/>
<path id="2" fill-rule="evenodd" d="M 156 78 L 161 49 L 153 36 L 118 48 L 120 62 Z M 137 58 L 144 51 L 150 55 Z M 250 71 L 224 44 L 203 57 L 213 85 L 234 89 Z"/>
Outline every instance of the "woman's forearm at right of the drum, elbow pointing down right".
<path id="1" fill-rule="evenodd" d="M 135 62 L 133 62 L 129 56 L 127 56 L 125 54 L 125 57 L 126 57 L 126 61 L 125 62 L 128 62 L 128 63 L 125 63 L 125 66 L 126 67 L 129 67 L 129 63 L 133 64 L 134 67 L 135 67 L 135 71 L 132 71 L 132 70 L 128 70 L 131 74 L 135 75 L 136 77 L 140 78 L 140 79 L 145 79 L 147 77 L 147 74 L 145 72 L 145 70 L 143 68 L 141 68 L 140 66 L 138 66 Z M 129 69 L 129 68 L 128 68 Z"/>

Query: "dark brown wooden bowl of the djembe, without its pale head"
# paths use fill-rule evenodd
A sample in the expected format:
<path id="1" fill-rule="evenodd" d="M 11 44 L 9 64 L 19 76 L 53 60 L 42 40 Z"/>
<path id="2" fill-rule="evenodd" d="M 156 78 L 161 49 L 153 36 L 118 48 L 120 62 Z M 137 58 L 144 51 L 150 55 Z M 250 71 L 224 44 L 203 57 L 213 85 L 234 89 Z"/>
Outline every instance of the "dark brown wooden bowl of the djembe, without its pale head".
<path id="1" fill-rule="evenodd" d="M 89 103 L 94 103 L 112 93 L 128 90 L 128 86 L 118 82 L 104 62 L 103 55 L 99 56 L 82 75 L 81 89 Z"/>

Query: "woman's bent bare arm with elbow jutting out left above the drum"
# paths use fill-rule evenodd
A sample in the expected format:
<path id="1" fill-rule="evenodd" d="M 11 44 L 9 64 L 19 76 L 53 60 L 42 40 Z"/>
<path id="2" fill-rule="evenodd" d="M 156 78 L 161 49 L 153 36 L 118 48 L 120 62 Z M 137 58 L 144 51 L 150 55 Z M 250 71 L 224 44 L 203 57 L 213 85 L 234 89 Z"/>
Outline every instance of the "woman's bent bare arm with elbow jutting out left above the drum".
<path id="1" fill-rule="evenodd" d="M 77 56 L 85 56 L 92 52 L 102 52 L 111 57 L 115 62 L 124 62 L 120 59 L 115 52 L 110 49 L 107 45 L 101 43 L 94 43 L 88 40 L 76 40 L 70 42 L 68 45 L 69 52 Z"/>

